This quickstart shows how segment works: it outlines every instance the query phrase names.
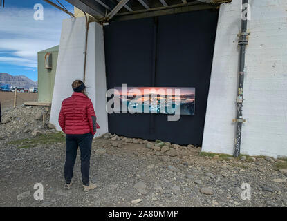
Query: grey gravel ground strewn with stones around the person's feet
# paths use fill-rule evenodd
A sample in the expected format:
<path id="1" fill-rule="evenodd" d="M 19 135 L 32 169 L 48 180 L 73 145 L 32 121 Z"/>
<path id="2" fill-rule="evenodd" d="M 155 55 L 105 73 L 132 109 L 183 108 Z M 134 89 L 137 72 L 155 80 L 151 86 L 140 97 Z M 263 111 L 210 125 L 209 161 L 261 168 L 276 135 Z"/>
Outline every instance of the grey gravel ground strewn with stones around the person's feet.
<path id="1" fill-rule="evenodd" d="M 285 160 L 234 159 L 109 133 L 93 140 L 90 180 L 98 187 L 82 190 L 78 153 L 73 186 L 65 191 L 64 135 L 48 124 L 48 113 L 42 126 L 41 113 L 25 107 L 3 113 L 0 206 L 287 206 Z M 41 133 L 33 135 L 35 128 Z M 33 197 L 36 183 L 44 186 L 43 200 Z M 241 198 L 244 183 L 250 200 Z"/>

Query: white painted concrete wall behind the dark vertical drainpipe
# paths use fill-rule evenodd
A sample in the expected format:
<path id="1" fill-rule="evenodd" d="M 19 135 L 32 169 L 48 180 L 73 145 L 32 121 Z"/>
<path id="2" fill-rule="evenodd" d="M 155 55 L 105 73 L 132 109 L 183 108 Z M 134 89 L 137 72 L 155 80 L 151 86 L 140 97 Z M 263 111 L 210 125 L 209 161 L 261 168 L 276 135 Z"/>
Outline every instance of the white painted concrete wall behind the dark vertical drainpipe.
<path id="1" fill-rule="evenodd" d="M 287 156 L 287 1 L 250 0 L 241 153 Z M 221 5 L 205 117 L 205 152 L 233 154 L 241 0 Z"/>

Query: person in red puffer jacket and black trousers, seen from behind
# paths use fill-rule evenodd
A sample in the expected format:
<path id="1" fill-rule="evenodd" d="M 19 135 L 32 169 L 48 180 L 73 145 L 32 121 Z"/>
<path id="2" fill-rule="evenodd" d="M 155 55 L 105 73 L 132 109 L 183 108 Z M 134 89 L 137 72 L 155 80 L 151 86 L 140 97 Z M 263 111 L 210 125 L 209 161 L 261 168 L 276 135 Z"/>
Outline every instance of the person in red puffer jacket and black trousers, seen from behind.
<path id="1" fill-rule="evenodd" d="M 66 162 L 64 167 L 65 189 L 72 185 L 73 168 L 77 156 L 77 148 L 81 153 L 81 173 L 84 191 L 95 189 L 89 182 L 91 144 L 93 135 L 99 128 L 91 99 L 86 95 L 86 86 L 80 80 L 73 81 L 74 93 L 64 99 L 59 113 L 59 125 L 66 133 Z"/>

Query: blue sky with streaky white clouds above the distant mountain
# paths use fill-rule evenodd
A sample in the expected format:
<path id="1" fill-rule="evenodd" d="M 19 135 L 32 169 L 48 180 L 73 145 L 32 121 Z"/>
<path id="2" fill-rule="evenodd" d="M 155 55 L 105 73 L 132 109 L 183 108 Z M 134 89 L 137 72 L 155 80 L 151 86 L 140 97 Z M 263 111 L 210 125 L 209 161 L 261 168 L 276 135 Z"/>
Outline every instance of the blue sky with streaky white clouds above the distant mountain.
<path id="1" fill-rule="evenodd" d="M 73 12 L 70 3 L 59 2 Z M 34 19 L 36 3 L 43 5 L 44 20 Z M 59 44 L 66 18 L 70 16 L 42 0 L 6 0 L 0 8 L 0 73 L 37 81 L 37 52 Z"/>

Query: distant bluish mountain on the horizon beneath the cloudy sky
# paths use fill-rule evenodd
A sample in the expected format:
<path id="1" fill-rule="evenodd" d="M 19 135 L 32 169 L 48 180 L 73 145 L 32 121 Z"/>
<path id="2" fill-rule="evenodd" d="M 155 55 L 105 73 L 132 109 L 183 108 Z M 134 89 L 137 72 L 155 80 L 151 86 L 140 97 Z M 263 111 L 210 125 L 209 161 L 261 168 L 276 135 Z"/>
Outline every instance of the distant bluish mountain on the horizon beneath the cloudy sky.
<path id="1" fill-rule="evenodd" d="M 8 73 L 0 73 L 0 85 L 3 84 L 9 84 L 10 86 L 17 86 L 18 88 L 24 89 L 37 87 L 37 82 L 29 79 L 24 75 L 12 76 Z"/>

